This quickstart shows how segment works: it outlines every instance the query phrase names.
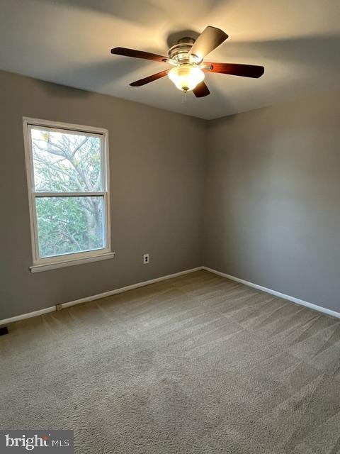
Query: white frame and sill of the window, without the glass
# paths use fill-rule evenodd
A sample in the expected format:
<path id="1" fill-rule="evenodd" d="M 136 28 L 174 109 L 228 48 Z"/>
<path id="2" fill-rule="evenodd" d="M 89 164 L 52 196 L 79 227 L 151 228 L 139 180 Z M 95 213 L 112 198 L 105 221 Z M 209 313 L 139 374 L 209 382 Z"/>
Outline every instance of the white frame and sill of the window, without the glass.
<path id="1" fill-rule="evenodd" d="M 32 128 L 49 128 L 53 131 L 67 133 L 81 133 L 82 135 L 98 136 L 101 138 L 101 172 L 103 188 L 98 192 L 35 192 L 33 150 L 31 140 Z M 52 270 L 64 266 L 79 265 L 86 262 L 113 258 L 115 253 L 111 250 L 111 216 L 110 216 L 110 167 L 108 163 L 108 130 L 93 126 L 61 123 L 60 121 L 40 120 L 38 118 L 23 117 L 23 138 L 25 145 L 26 175 L 28 184 L 28 203 L 30 208 L 30 233 L 32 243 L 33 265 L 31 272 Z M 42 196 L 103 196 L 104 200 L 104 228 L 106 248 L 69 253 L 53 257 L 41 258 L 39 254 L 37 215 L 35 199 Z"/>

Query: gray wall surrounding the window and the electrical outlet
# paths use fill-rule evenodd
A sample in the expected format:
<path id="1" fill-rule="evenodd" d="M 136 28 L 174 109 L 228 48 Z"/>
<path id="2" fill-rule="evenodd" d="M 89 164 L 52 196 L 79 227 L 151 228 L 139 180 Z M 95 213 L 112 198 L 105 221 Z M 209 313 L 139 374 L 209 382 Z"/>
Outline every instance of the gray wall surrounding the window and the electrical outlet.
<path id="1" fill-rule="evenodd" d="M 0 319 L 202 264 L 204 121 L 8 72 L 0 106 Z M 108 128 L 115 259 L 28 271 L 23 116 Z"/>

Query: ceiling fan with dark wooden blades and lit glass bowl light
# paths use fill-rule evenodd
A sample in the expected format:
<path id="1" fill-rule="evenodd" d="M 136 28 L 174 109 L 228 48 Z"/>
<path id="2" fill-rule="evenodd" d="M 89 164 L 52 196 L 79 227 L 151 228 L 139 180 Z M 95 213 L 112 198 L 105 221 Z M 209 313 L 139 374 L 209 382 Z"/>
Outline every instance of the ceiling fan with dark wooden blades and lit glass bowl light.
<path id="1" fill-rule="evenodd" d="M 176 87 L 186 93 L 193 90 L 196 97 L 201 98 L 210 94 L 203 79 L 205 72 L 218 72 L 220 74 L 232 74 L 243 77 L 261 77 L 264 72 L 263 66 L 239 65 L 236 63 L 203 62 L 209 52 L 216 49 L 228 38 L 227 33 L 220 28 L 208 26 L 195 40 L 194 38 L 181 38 L 168 52 L 169 57 L 152 54 L 142 50 L 128 48 L 114 48 L 111 53 L 125 55 L 125 57 L 144 58 L 154 62 L 169 63 L 173 67 L 169 70 L 157 72 L 144 79 L 136 80 L 130 85 L 141 87 L 168 75 Z"/>

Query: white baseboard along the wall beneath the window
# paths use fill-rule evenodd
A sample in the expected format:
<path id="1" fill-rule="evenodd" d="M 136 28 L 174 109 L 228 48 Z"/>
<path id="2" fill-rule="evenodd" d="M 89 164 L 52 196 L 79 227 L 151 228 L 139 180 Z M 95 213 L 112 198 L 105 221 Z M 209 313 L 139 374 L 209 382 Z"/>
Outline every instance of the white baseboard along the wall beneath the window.
<path id="1" fill-rule="evenodd" d="M 40 309 L 39 311 L 28 312 L 28 314 L 16 315 L 14 317 L 9 317 L 8 319 L 0 320 L 0 326 L 1 325 L 7 325 L 8 323 L 13 323 L 13 321 L 20 321 L 20 320 L 23 320 L 23 319 L 30 319 L 30 317 L 36 317 L 38 315 L 47 314 L 48 312 L 57 311 L 57 306 L 59 306 L 62 309 L 65 309 L 67 307 L 74 306 L 76 304 L 81 304 L 81 303 L 86 303 L 86 302 L 89 302 L 89 301 L 94 301 L 94 299 L 101 299 L 101 298 L 105 298 L 105 297 L 111 297 L 111 295 L 115 295 L 115 294 L 123 293 L 123 292 L 128 292 L 128 290 L 137 289 L 138 287 L 145 287 L 145 285 L 154 284 L 155 282 L 164 281 L 166 279 L 171 279 L 172 277 L 188 275 L 191 272 L 199 271 L 199 270 L 202 270 L 202 269 L 203 269 L 203 267 L 191 268 L 190 270 L 184 270 L 184 271 L 180 271 L 180 272 L 175 272 L 172 275 L 156 277 L 156 279 L 150 279 L 150 280 L 144 281 L 144 282 L 137 282 L 137 284 L 132 284 L 132 285 L 128 285 L 126 287 L 121 287 L 120 289 L 110 290 L 109 292 L 98 293 L 96 295 L 92 295 L 91 297 L 85 297 L 85 298 L 76 299 L 74 301 L 69 301 L 68 303 L 56 304 L 55 306 L 46 307 L 45 309 Z"/>

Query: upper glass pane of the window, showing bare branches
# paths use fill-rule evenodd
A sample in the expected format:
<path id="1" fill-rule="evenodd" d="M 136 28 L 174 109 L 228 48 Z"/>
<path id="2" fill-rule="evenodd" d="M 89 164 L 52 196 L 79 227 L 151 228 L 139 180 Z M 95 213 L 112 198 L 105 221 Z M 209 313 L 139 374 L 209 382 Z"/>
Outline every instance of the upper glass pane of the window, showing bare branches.
<path id="1" fill-rule="evenodd" d="M 31 129 L 35 192 L 103 190 L 101 138 Z"/>

